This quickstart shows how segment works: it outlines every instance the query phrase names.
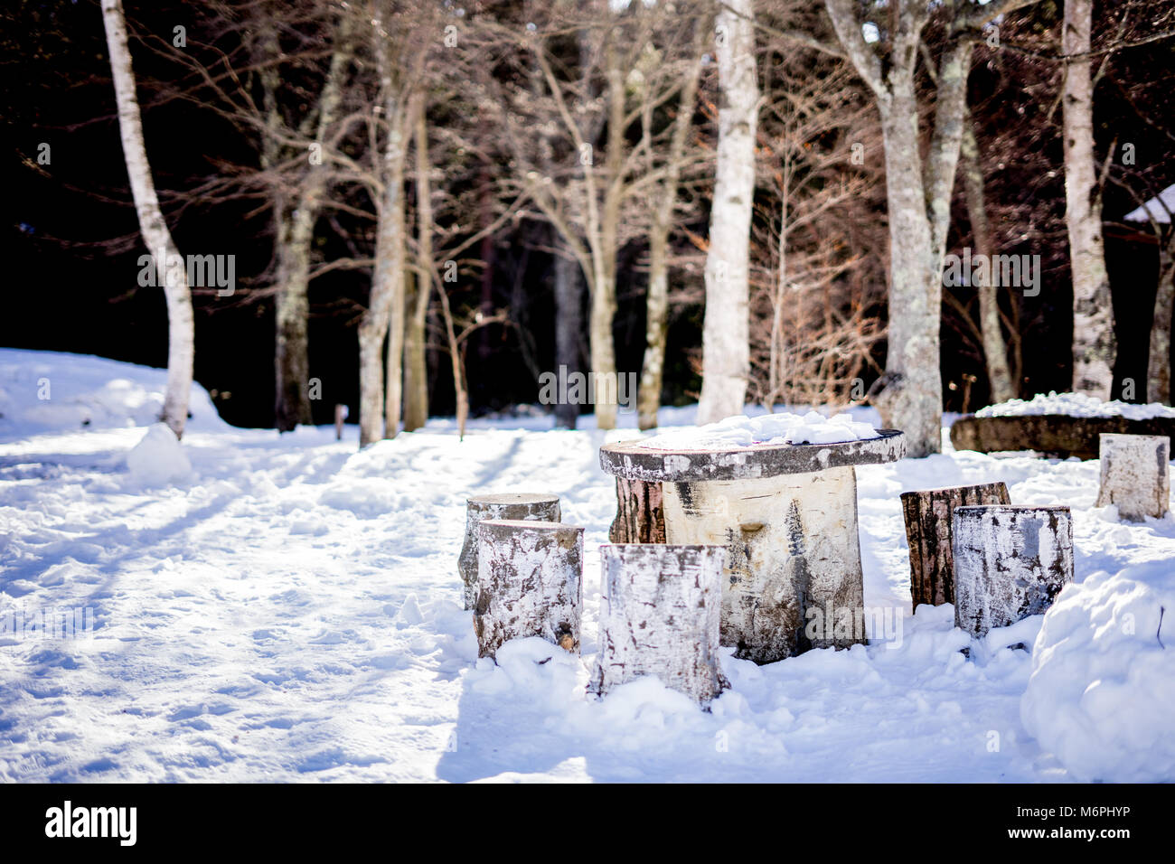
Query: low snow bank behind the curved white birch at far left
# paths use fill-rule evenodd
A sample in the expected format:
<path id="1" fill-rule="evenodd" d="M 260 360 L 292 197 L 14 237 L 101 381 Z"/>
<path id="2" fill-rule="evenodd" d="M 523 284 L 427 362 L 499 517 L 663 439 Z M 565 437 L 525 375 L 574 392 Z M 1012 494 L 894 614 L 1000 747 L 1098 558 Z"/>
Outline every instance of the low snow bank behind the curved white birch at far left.
<path id="1" fill-rule="evenodd" d="M 83 354 L 0 348 L 0 435 L 150 426 L 163 408 L 167 370 Z M 228 424 L 192 384 L 187 429 Z"/>

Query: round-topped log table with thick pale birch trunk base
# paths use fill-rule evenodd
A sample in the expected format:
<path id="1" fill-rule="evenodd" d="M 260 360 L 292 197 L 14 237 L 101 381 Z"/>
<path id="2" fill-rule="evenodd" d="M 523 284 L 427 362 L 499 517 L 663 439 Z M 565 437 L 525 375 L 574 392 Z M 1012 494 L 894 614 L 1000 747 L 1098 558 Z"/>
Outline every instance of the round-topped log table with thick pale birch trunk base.
<path id="1" fill-rule="evenodd" d="M 905 436 L 838 444 L 662 450 L 600 448 L 600 467 L 660 483 L 665 540 L 723 545 L 721 644 L 772 663 L 865 641 L 854 466 L 893 462 Z"/>

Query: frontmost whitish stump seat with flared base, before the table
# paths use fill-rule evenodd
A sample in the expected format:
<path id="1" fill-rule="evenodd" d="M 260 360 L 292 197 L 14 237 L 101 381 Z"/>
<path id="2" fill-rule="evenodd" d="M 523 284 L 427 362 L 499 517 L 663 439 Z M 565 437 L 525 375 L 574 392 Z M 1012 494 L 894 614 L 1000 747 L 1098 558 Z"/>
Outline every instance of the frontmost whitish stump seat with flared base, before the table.
<path id="1" fill-rule="evenodd" d="M 706 704 L 728 683 L 718 656 L 723 564 L 716 545 L 602 545 L 604 591 L 591 692 L 654 675 Z"/>

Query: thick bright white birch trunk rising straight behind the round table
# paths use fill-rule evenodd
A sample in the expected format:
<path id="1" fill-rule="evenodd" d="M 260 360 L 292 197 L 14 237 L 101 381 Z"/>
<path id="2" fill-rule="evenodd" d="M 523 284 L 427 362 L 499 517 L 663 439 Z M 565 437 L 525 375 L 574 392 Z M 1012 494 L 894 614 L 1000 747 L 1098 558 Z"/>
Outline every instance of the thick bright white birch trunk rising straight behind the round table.
<path id="1" fill-rule="evenodd" d="M 752 0 L 730 0 L 719 8 L 716 22 L 718 163 L 706 254 L 698 423 L 741 414 L 746 402 L 751 366 L 747 269 L 759 110 L 753 18 Z"/>

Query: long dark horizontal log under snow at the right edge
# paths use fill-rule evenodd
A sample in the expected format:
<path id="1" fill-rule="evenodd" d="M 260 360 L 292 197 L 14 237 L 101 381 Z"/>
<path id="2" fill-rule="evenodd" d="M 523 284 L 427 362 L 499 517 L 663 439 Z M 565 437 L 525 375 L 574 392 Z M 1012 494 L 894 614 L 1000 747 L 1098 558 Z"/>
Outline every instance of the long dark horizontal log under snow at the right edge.
<path id="1" fill-rule="evenodd" d="M 960 417 L 951 427 L 951 443 L 956 450 L 1036 450 L 1061 458 L 1097 458 L 1097 437 L 1104 434 L 1175 437 L 1175 417 L 1127 420 L 1066 414 Z"/>

